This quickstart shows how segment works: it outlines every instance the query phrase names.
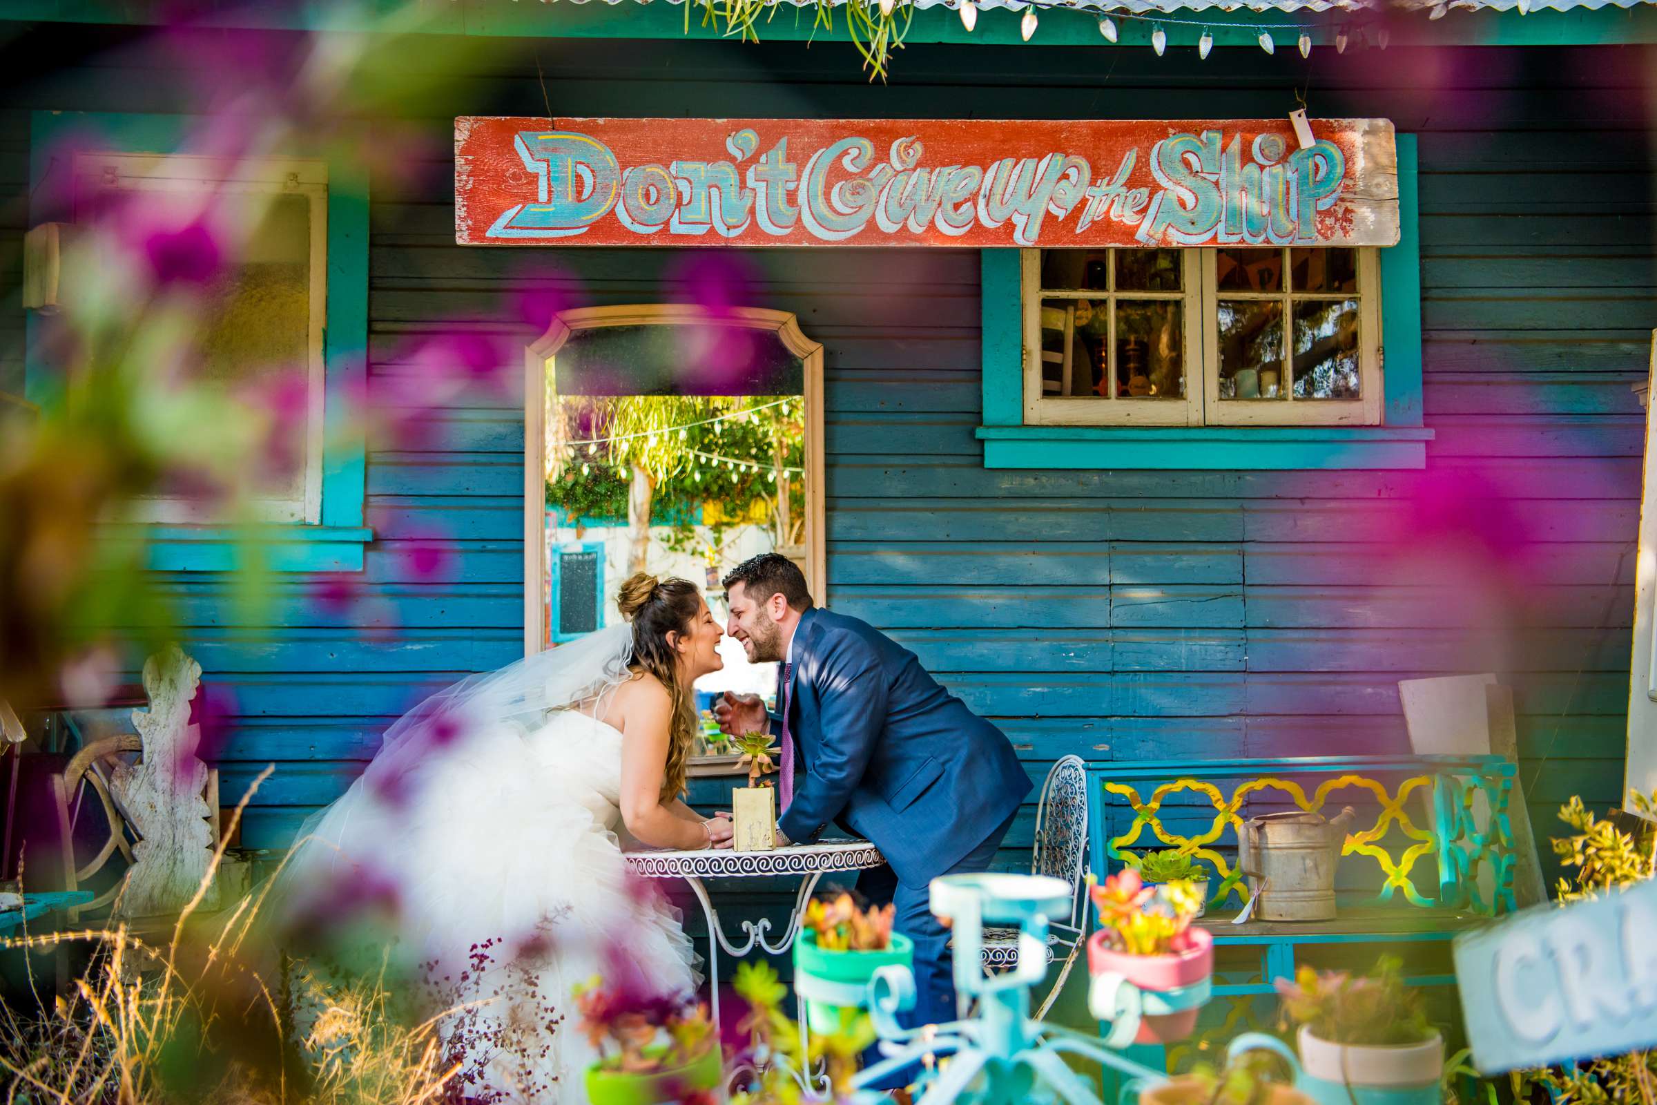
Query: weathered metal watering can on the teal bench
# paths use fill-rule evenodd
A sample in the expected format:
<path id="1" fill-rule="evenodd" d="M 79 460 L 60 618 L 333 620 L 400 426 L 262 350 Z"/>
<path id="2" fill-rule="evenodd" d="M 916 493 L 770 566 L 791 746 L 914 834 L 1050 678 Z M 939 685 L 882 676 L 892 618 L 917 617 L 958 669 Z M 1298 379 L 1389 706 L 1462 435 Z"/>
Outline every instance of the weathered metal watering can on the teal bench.
<path id="1" fill-rule="evenodd" d="M 1248 875 L 1249 905 L 1238 916 L 1261 921 L 1329 921 L 1336 916 L 1336 861 L 1352 807 L 1332 822 L 1321 813 L 1263 813 L 1238 832 L 1238 870 Z"/>

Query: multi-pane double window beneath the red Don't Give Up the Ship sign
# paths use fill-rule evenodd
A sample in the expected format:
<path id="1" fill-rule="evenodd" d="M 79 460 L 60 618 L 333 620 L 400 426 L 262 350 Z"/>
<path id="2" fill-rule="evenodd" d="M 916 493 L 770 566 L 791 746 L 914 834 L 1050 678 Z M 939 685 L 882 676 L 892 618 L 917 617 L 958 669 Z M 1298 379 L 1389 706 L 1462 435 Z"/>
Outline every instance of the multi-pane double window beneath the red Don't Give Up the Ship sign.
<path id="1" fill-rule="evenodd" d="M 1372 249 L 1024 250 L 1031 426 L 1374 426 Z"/>

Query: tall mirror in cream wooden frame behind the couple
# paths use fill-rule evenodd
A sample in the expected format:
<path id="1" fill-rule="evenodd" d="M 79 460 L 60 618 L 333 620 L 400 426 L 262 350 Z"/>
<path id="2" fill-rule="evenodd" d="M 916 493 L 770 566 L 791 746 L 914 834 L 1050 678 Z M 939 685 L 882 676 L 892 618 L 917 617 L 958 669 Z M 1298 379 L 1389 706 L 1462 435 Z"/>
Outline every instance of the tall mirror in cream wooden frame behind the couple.
<path id="1" fill-rule="evenodd" d="M 621 620 L 635 572 L 703 588 L 780 552 L 824 598 L 822 346 L 794 315 L 691 305 L 560 313 L 525 363 L 525 653 Z M 698 681 L 771 697 L 775 664 L 721 643 Z M 699 749 L 724 757 L 717 741 Z"/>

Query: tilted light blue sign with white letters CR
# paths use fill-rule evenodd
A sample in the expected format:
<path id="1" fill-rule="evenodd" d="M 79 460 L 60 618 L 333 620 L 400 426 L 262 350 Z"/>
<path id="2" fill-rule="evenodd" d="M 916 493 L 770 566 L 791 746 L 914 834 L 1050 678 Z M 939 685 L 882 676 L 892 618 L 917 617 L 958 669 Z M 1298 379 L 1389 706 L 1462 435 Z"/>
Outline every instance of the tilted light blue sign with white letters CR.
<path id="1" fill-rule="evenodd" d="M 1657 1045 L 1657 881 L 1533 906 L 1455 939 L 1481 1074 Z"/>

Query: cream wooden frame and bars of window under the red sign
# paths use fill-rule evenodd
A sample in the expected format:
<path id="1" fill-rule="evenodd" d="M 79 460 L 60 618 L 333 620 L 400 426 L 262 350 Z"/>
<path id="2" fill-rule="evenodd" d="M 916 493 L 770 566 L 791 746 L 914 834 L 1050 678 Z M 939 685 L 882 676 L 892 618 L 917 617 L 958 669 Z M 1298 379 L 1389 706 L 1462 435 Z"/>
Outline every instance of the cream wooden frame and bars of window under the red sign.
<path id="1" fill-rule="evenodd" d="M 1221 399 L 1220 398 L 1220 300 L 1276 300 L 1283 303 L 1284 356 L 1292 348 L 1292 302 L 1345 300 L 1354 295 L 1301 293 L 1289 287 L 1289 253 L 1284 250 L 1281 292 L 1228 292 L 1220 295 L 1215 250 L 1181 249 L 1185 290 L 1180 293 L 1130 293 L 1041 287 L 1041 249 L 1019 250 L 1019 300 L 1022 330 L 1022 381 L 1026 426 L 1380 426 L 1385 411 L 1382 376 L 1382 305 L 1379 250 L 1357 249 L 1359 287 L 1359 398 L 1357 399 Z M 1112 250 L 1112 255 L 1115 250 Z M 1115 265 L 1112 265 L 1112 283 Z M 1051 298 L 1175 300 L 1183 303 L 1185 403 L 1173 399 L 1051 398 L 1042 388 L 1041 305 Z M 1115 316 L 1107 341 L 1115 378 Z M 1289 361 L 1284 361 L 1287 364 Z M 1284 388 L 1292 391 L 1292 383 Z"/>

